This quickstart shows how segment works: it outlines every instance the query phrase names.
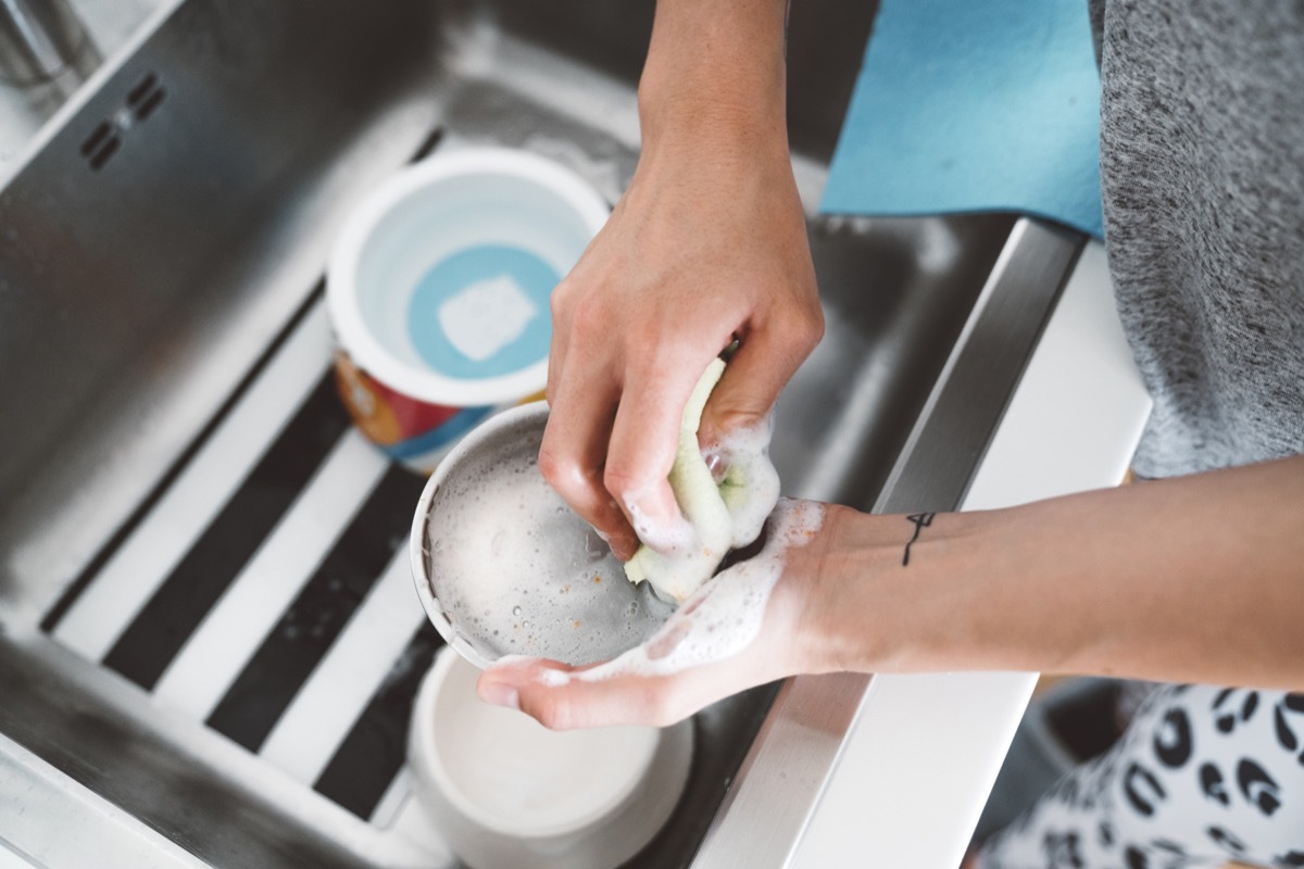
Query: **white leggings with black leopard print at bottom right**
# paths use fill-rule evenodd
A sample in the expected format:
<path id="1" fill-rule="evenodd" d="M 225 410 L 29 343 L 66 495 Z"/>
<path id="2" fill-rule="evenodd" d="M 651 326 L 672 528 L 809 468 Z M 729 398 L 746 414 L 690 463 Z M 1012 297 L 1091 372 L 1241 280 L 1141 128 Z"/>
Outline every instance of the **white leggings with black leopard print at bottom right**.
<path id="1" fill-rule="evenodd" d="M 1304 866 L 1304 694 L 1163 685 L 1112 749 L 988 840 L 982 869 Z"/>

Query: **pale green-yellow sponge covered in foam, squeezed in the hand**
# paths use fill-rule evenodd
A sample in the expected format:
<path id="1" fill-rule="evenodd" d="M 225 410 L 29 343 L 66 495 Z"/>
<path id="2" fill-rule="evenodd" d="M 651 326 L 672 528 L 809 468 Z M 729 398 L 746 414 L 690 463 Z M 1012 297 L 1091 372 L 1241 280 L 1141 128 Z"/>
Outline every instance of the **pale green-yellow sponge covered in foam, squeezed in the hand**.
<path id="1" fill-rule="evenodd" d="M 669 477 L 683 525 L 656 548 L 644 542 L 625 564 L 631 582 L 647 581 L 660 598 L 675 603 L 709 580 L 730 548 L 756 539 L 778 500 L 778 474 L 767 455 L 768 421 L 720 444 L 726 470 L 719 483 L 698 446 L 702 410 L 724 370 L 724 360 L 712 360 L 683 408 Z"/>

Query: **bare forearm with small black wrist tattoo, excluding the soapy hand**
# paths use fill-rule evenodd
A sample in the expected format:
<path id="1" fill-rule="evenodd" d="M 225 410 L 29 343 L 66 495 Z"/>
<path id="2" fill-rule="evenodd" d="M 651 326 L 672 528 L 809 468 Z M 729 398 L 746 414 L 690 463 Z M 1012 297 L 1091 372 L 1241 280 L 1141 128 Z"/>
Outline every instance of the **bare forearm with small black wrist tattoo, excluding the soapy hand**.
<path id="1" fill-rule="evenodd" d="M 1304 687 L 1304 457 L 915 529 L 836 515 L 814 668 Z"/>

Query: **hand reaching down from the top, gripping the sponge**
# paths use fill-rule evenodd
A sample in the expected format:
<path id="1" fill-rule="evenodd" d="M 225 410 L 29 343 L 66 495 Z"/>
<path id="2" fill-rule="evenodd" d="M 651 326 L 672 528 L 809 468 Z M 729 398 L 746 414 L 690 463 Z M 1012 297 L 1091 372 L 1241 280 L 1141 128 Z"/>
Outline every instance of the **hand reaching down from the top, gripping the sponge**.
<path id="1" fill-rule="evenodd" d="M 666 476 L 707 363 L 738 339 L 704 444 L 768 414 L 823 334 L 788 155 L 782 3 L 751 1 L 657 4 L 638 171 L 553 292 L 540 469 L 622 559 L 635 516 L 653 533 L 678 517 Z"/>

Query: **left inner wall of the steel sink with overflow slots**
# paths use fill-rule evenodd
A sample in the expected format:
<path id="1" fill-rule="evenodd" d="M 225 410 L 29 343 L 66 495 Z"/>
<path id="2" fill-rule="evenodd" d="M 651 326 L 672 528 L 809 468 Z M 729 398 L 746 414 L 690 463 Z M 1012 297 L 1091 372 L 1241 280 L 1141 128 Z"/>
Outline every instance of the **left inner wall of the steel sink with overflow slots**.
<path id="1" fill-rule="evenodd" d="M 7 597 L 48 608 L 436 128 L 439 7 L 352 9 L 183 5 L 0 193 Z"/>

